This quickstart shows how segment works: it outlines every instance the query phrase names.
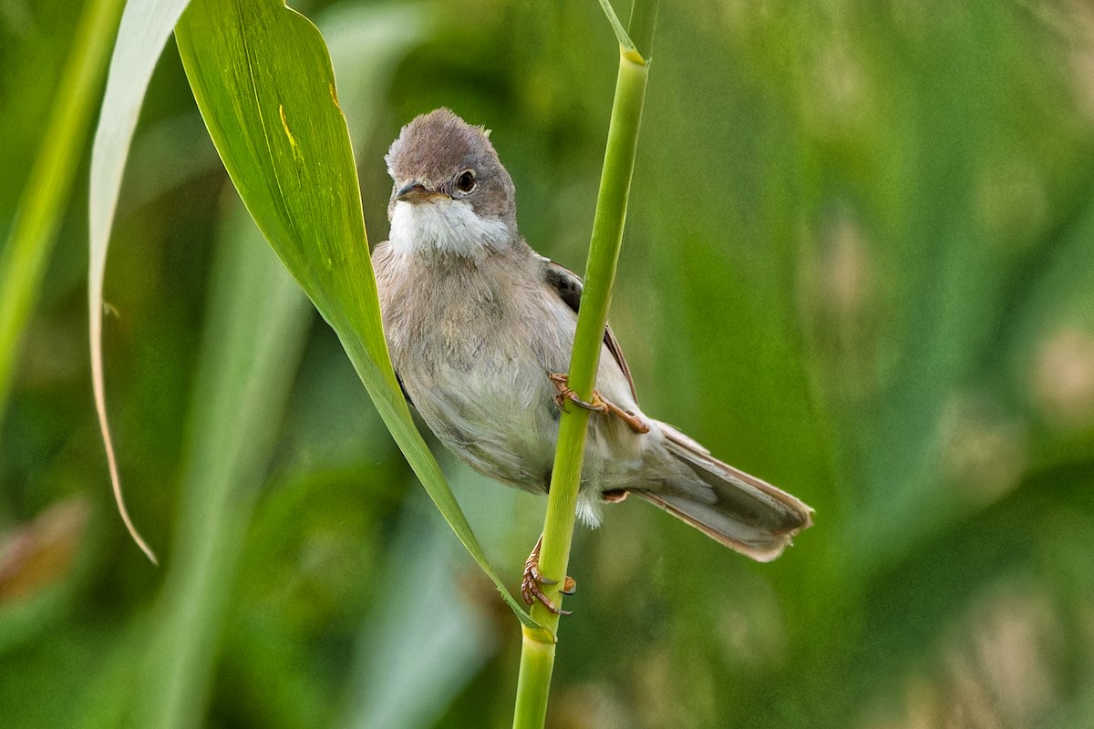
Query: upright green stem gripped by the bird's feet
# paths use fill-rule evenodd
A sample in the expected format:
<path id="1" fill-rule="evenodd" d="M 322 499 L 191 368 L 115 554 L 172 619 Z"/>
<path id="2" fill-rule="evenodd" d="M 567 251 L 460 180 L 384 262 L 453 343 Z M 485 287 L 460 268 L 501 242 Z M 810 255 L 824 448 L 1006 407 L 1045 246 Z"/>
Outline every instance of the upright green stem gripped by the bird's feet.
<path id="1" fill-rule="evenodd" d="M 653 0 L 650 4 L 655 4 Z M 638 3 L 641 4 L 641 0 Z M 654 11 L 655 12 L 655 11 Z M 636 12 L 636 17 L 639 13 Z M 642 12 L 642 17 L 653 13 Z M 643 30 L 643 33 L 645 31 Z M 652 22 L 647 39 L 652 38 Z M 608 127 L 607 148 L 601 188 L 596 199 L 589 262 L 585 267 L 585 285 L 574 334 L 573 355 L 570 360 L 570 387 L 583 400 L 592 398 L 607 325 L 612 283 L 622 243 L 624 223 L 627 217 L 627 198 L 635 171 L 639 122 L 645 96 L 649 67 L 635 47 L 620 44 L 619 74 L 616 79 L 612 122 Z M 560 605 L 559 587 L 566 576 L 573 539 L 573 524 L 578 505 L 578 486 L 585 450 L 589 411 L 571 408 L 562 413 L 559 423 L 555 467 L 551 471 L 550 493 L 547 498 L 547 517 L 544 525 L 543 548 L 539 552 L 539 572 L 556 580 L 545 586 L 547 597 Z M 558 634 L 559 615 L 542 604 L 532 607 L 532 616 Z M 516 685 L 516 706 L 513 729 L 539 729 L 547 717 L 547 698 L 555 666 L 555 644 L 533 631 L 524 628 L 521 652 L 521 672 Z"/>

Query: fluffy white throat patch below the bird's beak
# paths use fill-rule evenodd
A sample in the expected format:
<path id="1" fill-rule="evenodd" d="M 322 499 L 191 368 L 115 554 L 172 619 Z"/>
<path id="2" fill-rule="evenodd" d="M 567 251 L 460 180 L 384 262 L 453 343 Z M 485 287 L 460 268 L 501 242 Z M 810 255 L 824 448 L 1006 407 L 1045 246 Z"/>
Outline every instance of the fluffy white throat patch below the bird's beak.
<path id="1" fill-rule="evenodd" d="M 392 211 L 392 247 L 407 254 L 435 251 L 481 258 L 490 249 L 504 248 L 510 239 L 504 222 L 479 217 L 465 200 L 399 200 Z"/>

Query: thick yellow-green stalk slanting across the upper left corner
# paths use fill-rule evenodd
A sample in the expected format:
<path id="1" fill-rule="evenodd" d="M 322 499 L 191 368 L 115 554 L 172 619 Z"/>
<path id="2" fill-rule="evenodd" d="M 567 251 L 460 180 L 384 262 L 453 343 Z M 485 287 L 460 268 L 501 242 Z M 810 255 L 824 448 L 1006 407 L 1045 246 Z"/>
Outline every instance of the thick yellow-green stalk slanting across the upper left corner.
<path id="1" fill-rule="evenodd" d="M 20 338 L 34 309 L 65 212 L 62 205 L 80 165 L 124 5 L 123 0 L 90 0 L 84 5 L 42 149 L 0 254 L 0 415 L 19 358 Z"/>

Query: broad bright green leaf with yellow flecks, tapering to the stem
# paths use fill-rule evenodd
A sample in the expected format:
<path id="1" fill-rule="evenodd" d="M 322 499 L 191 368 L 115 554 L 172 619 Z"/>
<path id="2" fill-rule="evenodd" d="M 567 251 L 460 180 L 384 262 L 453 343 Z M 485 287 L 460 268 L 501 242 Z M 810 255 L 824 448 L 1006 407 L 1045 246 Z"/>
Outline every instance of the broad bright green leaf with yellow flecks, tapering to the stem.
<path id="1" fill-rule="evenodd" d="M 266 239 L 335 329 L 411 468 L 522 622 L 410 419 L 380 321 L 360 191 L 326 45 L 276 0 L 194 2 L 176 28 L 198 108 Z"/>

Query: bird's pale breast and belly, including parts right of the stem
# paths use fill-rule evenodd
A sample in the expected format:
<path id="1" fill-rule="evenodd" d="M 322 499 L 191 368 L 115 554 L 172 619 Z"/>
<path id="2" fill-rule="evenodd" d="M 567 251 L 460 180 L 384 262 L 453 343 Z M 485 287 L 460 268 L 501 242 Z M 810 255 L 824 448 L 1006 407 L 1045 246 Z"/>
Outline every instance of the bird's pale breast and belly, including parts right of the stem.
<path id="1" fill-rule="evenodd" d="M 573 310 L 544 284 L 531 258 L 437 266 L 382 244 L 374 264 L 395 369 L 429 428 L 479 472 L 546 491 L 559 419 L 548 375 L 569 368 Z M 637 411 L 606 348 L 597 385 Z M 628 485 L 641 449 L 620 421 L 594 416 L 583 491 Z"/>

